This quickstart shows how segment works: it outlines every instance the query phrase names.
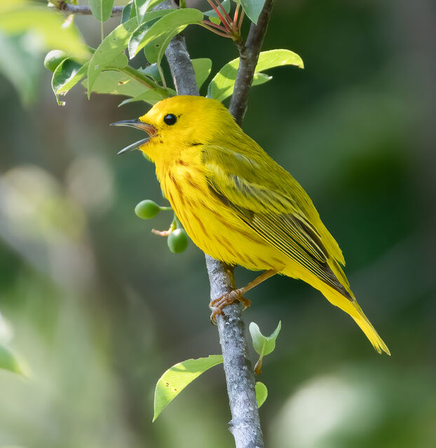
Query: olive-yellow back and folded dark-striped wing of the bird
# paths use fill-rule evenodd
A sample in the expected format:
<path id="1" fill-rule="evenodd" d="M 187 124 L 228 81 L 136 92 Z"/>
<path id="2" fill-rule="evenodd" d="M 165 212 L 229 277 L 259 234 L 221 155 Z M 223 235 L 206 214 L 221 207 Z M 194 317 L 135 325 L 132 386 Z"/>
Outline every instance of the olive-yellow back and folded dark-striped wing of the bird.
<path id="1" fill-rule="evenodd" d="M 253 155 L 204 146 L 202 162 L 210 190 L 258 235 L 350 298 L 348 283 L 339 280 L 343 255 L 311 199 L 285 169 L 260 147 L 255 149 Z"/>

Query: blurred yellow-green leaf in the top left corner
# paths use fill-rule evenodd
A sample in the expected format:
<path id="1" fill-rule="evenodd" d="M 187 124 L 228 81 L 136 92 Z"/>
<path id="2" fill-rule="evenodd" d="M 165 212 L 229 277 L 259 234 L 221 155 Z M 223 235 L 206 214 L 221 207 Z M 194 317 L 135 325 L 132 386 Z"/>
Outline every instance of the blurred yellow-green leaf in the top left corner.
<path id="1" fill-rule="evenodd" d="M 0 31 L 4 34 L 32 33 L 32 51 L 64 50 L 79 61 L 90 57 L 78 29 L 72 25 L 62 28 L 64 15 L 39 6 L 38 3 L 21 1 L 0 2 Z"/>

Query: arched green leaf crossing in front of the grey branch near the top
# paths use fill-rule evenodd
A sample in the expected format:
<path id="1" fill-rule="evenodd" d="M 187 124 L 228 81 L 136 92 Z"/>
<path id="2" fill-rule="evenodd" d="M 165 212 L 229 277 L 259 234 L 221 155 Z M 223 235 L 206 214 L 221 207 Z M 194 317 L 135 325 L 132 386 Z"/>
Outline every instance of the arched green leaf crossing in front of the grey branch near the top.
<path id="1" fill-rule="evenodd" d="M 162 11 L 156 11 L 156 13 L 158 12 Z M 152 13 L 147 13 L 147 15 L 148 14 Z M 151 43 L 156 38 L 173 33 L 178 34 L 192 23 L 201 23 L 201 20 L 203 20 L 203 13 L 201 13 L 201 11 L 198 9 L 186 8 L 168 12 L 163 18 L 151 25 L 151 27 L 148 25 L 144 27 L 144 24 L 142 24 L 135 30 L 135 33 L 133 33 L 130 38 L 128 45 L 130 59 L 135 57 L 139 50 L 142 50 L 145 45 Z"/>

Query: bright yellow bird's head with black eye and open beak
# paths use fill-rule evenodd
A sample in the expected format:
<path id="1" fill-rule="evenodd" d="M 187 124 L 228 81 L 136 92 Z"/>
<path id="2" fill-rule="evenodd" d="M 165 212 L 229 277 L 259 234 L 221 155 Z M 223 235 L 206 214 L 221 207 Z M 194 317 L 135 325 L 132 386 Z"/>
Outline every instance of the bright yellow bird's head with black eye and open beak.
<path id="1" fill-rule="evenodd" d="M 220 102 L 187 95 L 163 99 L 145 115 L 111 125 L 136 127 L 147 132 L 147 137 L 119 153 L 139 149 L 155 163 L 177 157 L 186 145 L 210 143 L 228 133 L 231 127 L 237 127 Z"/>

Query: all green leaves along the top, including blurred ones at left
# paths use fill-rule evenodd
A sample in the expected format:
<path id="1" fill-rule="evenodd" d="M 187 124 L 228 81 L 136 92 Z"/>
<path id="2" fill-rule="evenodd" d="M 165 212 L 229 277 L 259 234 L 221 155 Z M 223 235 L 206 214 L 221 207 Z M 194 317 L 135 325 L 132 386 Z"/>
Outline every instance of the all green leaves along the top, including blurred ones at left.
<path id="1" fill-rule="evenodd" d="M 62 14 L 54 8 L 35 6 L 28 0 L 17 3 L 3 1 L 0 3 L 0 41 L 3 38 L 11 46 L 11 53 L 16 55 L 17 62 L 11 64 L 11 61 L 5 61 L 0 64 L 0 69 L 4 66 L 6 76 L 18 90 L 22 89 L 24 83 L 20 79 L 23 76 L 17 72 L 25 72 L 19 70 L 22 66 L 18 58 L 20 52 L 11 36 L 30 32 L 40 36 L 41 48 L 55 48 L 67 55 L 53 67 L 52 88 L 58 104 L 64 104 L 60 97 L 79 83 L 86 88 L 88 97 L 92 92 L 116 94 L 128 97 L 120 105 L 130 102 L 156 104 L 175 94 L 175 90 L 167 85 L 161 69 L 161 61 L 171 39 L 189 25 L 199 25 L 213 31 L 205 25 L 205 18 L 209 23 L 210 20 L 220 22 L 216 12 L 219 9 L 216 7 L 206 12 L 196 8 L 153 10 L 158 3 L 161 0 L 130 1 L 123 8 L 121 23 L 102 39 L 97 48 L 90 48 L 85 45 L 71 16 L 63 22 Z M 217 1 L 217 4 L 221 3 Z M 255 22 L 264 0 L 245 0 L 235 4 L 236 8 L 242 6 L 247 17 Z M 111 15 L 113 1 L 90 0 L 89 5 L 95 18 L 104 22 Z M 231 1 L 223 1 L 222 10 L 231 11 L 232 7 Z M 137 69 L 130 62 L 139 53 L 144 54 L 146 64 Z M 18 69 L 15 70 L 14 65 Z M 214 75 L 207 85 L 207 97 L 224 101 L 231 96 L 238 65 L 239 59 L 233 59 Z M 271 80 L 271 76 L 263 71 L 281 65 L 304 66 L 301 58 L 292 51 L 262 52 L 253 85 Z M 210 76 L 212 60 L 193 59 L 193 69 L 200 88 Z"/>

